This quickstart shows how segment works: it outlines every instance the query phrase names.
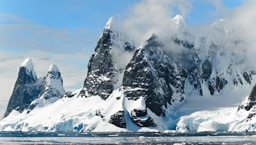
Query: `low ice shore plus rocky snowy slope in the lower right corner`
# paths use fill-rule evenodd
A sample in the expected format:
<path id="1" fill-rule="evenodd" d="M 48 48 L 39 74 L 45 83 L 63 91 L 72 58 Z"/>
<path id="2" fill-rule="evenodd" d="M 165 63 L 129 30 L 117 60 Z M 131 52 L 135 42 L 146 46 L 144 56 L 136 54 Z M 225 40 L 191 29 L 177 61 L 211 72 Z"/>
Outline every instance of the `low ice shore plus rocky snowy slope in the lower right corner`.
<path id="1" fill-rule="evenodd" d="M 198 111 L 182 116 L 177 123 L 178 132 L 255 132 L 256 85 L 238 107 L 215 111 Z"/>

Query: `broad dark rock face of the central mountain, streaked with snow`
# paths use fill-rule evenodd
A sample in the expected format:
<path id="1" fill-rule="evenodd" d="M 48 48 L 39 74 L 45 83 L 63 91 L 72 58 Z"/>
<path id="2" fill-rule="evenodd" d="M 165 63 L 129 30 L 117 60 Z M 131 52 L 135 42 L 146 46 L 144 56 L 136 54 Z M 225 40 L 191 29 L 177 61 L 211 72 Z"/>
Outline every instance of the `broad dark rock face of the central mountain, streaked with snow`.
<path id="1" fill-rule="evenodd" d="M 124 72 L 124 95 L 128 99 L 145 99 L 146 107 L 165 116 L 167 104 L 184 99 L 186 69 L 176 66 L 163 54 L 156 36 L 136 50 Z"/>

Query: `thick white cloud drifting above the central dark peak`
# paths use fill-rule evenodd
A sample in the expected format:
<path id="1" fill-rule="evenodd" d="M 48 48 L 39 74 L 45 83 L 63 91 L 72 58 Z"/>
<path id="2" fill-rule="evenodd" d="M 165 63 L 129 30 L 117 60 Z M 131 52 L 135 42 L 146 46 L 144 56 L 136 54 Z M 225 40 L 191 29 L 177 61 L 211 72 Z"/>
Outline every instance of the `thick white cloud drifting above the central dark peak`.
<path id="1" fill-rule="evenodd" d="M 170 19 L 174 10 L 186 17 L 192 10 L 193 1 L 186 0 L 142 0 L 131 7 L 127 17 L 120 24 L 123 29 L 136 39 L 138 46 L 152 34 L 168 34 L 172 32 Z"/>

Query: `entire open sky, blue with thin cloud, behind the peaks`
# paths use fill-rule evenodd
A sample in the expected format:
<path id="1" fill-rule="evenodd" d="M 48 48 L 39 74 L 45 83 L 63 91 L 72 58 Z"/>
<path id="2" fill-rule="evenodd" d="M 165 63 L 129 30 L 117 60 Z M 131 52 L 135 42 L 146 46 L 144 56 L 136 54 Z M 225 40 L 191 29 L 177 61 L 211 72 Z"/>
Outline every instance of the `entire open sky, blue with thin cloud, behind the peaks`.
<path id="1" fill-rule="evenodd" d="M 244 1 L 188 0 L 192 7 L 186 24 L 211 24 Z M 138 3 L 141 1 L 1 0 L 0 116 L 12 95 L 19 66 L 27 57 L 33 59 L 38 76 L 44 76 L 54 63 L 60 67 L 66 90 L 83 86 L 88 60 L 108 18 L 122 20 Z M 170 17 L 180 13 L 179 8 L 171 9 Z"/>

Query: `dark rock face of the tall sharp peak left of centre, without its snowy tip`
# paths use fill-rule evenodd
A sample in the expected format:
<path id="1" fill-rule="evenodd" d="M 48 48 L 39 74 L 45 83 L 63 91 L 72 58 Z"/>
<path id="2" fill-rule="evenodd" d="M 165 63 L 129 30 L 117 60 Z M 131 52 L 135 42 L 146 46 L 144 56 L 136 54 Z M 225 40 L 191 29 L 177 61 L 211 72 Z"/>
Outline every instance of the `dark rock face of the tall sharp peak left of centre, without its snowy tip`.
<path id="1" fill-rule="evenodd" d="M 117 46 L 116 41 L 124 41 L 124 46 Z M 88 74 L 84 80 L 82 96 L 100 95 L 105 100 L 115 89 L 120 71 L 113 63 L 113 46 L 128 52 L 134 50 L 134 46 L 123 40 L 118 32 L 105 28 L 88 63 Z"/>

